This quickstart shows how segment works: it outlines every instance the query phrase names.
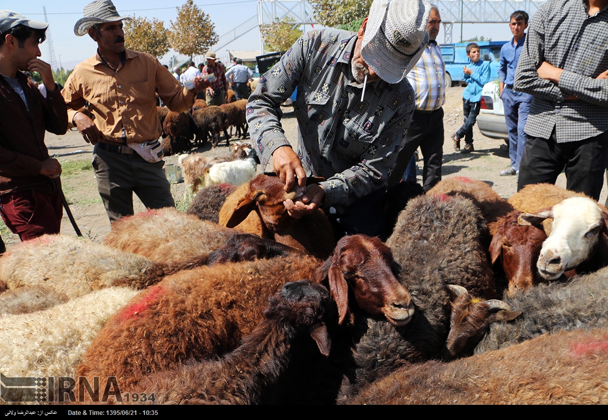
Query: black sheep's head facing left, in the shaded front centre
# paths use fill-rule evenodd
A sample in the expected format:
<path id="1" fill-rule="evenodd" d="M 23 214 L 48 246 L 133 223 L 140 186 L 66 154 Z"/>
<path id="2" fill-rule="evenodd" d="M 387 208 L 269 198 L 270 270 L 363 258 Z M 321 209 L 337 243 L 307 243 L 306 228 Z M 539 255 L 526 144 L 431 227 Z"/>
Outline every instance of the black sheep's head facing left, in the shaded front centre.
<path id="1" fill-rule="evenodd" d="M 309 280 L 298 280 L 286 283 L 269 299 L 264 315 L 267 319 L 278 319 L 297 330 L 308 330 L 321 354 L 329 356 L 331 339 L 325 319 L 335 317 L 335 311 L 330 293 L 324 286 Z"/>

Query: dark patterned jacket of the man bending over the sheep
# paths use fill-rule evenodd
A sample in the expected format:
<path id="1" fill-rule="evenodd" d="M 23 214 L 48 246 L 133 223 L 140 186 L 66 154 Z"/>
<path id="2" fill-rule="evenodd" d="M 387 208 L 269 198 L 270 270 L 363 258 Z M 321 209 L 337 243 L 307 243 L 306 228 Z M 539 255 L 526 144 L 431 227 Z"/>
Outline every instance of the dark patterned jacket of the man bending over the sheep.
<path id="1" fill-rule="evenodd" d="M 404 79 L 362 84 L 354 80 L 352 32 L 305 33 L 260 78 L 247 103 L 247 122 L 263 168 L 272 153 L 289 145 L 281 128 L 280 104 L 298 88 L 297 154 L 306 175 L 324 177 L 325 208 L 338 212 L 358 198 L 385 188 L 414 110 Z"/>

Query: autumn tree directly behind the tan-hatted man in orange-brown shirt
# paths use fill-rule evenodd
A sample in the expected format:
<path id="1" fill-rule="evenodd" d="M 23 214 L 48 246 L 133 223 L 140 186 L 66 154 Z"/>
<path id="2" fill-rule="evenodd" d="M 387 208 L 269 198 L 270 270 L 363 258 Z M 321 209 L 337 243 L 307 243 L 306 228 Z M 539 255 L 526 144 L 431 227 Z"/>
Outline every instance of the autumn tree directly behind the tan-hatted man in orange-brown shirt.
<path id="1" fill-rule="evenodd" d="M 169 51 L 169 32 L 159 19 L 133 15 L 133 20 L 125 21 L 125 46 L 161 58 Z"/>

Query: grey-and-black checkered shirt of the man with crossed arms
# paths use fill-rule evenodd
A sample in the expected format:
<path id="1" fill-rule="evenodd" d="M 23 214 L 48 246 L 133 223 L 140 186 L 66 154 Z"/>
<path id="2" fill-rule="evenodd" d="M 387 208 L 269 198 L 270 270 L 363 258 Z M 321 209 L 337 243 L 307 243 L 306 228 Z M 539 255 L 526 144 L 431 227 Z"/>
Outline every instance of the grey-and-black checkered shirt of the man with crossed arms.
<path id="1" fill-rule="evenodd" d="M 539 77 L 544 61 L 564 72 L 559 84 Z M 558 143 L 608 131 L 608 6 L 589 16 L 583 0 L 551 0 L 531 19 L 515 72 L 516 90 L 531 93 L 526 134 Z M 579 100 L 568 100 L 574 95 Z"/>

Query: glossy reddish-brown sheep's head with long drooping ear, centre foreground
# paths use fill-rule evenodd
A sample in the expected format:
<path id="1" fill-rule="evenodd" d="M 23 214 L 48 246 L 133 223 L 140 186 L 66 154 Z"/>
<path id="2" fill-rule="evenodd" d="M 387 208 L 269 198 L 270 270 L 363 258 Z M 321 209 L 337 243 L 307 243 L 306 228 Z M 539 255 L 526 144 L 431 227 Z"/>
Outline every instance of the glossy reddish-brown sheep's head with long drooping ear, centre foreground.
<path id="1" fill-rule="evenodd" d="M 412 297 L 393 273 L 390 248 L 376 237 L 352 235 L 340 239 L 333 256 L 317 274 L 327 274 L 339 323 L 347 313 L 349 288 L 358 307 L 371 315 L 385 316 L 395 325 L 406 325 L 412 319 Z"/>

